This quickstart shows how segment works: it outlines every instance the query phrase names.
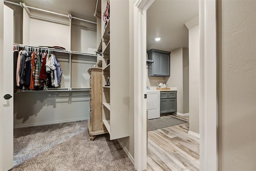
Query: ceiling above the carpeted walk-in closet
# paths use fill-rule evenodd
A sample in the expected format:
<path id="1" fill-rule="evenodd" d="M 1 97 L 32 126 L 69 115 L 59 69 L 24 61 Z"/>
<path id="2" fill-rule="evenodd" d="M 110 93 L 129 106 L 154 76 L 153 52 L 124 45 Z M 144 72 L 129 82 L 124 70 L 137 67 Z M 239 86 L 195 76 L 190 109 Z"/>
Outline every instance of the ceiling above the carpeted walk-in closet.
<path id="1" fill-rule="evenodd" d="M 74 17 L 96 22 L 94 17 L 97 0 L 8 0 L 24 2 L 27 6 L 53 11 L 60 14 L 72 14 Z"/>

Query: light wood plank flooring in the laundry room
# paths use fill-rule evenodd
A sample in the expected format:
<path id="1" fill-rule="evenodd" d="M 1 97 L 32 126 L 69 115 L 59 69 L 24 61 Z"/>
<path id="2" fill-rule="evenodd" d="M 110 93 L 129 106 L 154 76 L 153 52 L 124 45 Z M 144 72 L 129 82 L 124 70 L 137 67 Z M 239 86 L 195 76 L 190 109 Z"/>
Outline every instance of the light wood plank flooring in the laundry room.
<path id="1" fill-rule="evenodd" d="M 189 121 L 188 116 L 173 116 Z M 189 122 L 149 131 L 147 171 L 199 171 L 199 139 L 188 130 Z"/>

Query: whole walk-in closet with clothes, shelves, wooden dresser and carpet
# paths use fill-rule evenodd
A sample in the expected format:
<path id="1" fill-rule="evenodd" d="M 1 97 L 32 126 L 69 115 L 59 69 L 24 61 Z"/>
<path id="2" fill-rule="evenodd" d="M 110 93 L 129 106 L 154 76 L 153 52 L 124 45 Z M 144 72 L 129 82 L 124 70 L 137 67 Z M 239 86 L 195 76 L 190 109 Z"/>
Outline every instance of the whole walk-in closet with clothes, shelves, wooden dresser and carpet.
<path id="1" fill-rule="evenodd" d="M 129 16 L 119 15 L 128 4 L 4 0 L 14 89 L 4 97 L 8 109 L 13 104 L 5 112 L 13 113 L 6 170 L 134 169 L 126 148 L 133 141 L 129 41 L 120 43 L 129 40 Z"/>

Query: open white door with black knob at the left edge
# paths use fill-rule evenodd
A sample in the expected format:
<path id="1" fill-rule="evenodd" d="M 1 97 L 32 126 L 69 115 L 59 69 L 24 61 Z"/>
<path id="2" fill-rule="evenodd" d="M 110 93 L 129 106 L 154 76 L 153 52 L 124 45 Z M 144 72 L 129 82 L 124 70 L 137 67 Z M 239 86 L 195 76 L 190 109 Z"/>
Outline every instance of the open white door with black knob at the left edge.
<path id="1" fill-rule="evenodd" d="M 0 170 L 7 171 L 13 166 L 13 97 L 4 99 L 5 94 L 13 96 L 13 10 L 4 5 L 4 45 L 3 45 L 3 72 L 1 86 L 3 91 L 0 97 L 2 100 L 1 125 L 0 125 Z"/>

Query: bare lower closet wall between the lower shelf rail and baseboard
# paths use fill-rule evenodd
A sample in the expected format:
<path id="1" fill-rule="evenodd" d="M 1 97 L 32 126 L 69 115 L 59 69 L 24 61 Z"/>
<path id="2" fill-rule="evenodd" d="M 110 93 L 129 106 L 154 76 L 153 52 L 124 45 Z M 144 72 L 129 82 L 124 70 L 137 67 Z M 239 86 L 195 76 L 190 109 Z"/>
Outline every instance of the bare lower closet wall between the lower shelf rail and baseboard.
<path id="1" fill-rule="evenodd" d="M 90 117 L 87 92 L 17 92 L 14 95 L 14 126 L 51 124 Z"/>

